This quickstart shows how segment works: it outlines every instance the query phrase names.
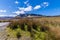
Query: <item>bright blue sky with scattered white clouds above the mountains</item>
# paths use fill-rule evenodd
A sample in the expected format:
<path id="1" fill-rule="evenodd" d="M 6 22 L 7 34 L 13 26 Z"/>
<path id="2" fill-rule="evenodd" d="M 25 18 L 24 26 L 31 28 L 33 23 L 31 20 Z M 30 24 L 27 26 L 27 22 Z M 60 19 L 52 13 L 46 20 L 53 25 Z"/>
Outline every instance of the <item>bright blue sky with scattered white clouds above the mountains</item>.
<path id="1" fill-rule="evenodd" d="M 60 0 L 0 0 L 0 17 L 24 13 L 60 15 Z"/>

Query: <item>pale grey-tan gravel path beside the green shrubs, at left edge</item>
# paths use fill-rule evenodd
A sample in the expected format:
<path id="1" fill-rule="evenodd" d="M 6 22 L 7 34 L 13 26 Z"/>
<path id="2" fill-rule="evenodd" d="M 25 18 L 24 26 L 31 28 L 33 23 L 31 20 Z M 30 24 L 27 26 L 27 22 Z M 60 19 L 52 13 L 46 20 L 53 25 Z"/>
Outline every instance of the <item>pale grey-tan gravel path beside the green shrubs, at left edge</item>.
<path id="1" fill-rule="evenodd" d="M 9 25 L 9 22 L 0 23 L 0 40 L 5 40 L 7 38 L 7 33 L 5 28 Z"/>

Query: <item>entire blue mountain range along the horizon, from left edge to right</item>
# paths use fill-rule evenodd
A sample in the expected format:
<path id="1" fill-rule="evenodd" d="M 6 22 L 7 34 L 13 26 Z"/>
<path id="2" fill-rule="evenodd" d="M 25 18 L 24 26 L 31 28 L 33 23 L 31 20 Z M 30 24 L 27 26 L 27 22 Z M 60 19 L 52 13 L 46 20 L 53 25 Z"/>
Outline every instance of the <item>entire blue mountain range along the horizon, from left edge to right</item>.
<path id="1" fill-rule="evenodd" d="M 46 15 L 40 15 L 40 14 L 25 13 L 25 14 L 17 15 L 16 17 L 0 17 L 0 20 L 10 20 L 10 19 L 24 18 L 24 17 L 60 17 L 60 15 L 46 16 Z"/>

